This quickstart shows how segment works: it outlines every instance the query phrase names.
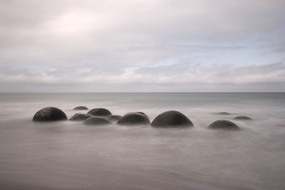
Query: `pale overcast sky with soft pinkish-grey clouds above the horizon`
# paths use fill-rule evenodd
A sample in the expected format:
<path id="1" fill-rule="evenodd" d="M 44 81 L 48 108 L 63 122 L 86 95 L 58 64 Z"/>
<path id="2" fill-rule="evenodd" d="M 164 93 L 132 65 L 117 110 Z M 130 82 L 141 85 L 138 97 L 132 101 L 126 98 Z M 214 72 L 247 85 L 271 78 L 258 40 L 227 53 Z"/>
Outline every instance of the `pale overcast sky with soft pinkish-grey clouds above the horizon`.
<path id="1" fill-rule="evenodd" d="M 284 0 L 0 0 L 0 92 L 285 92 Z"/>

